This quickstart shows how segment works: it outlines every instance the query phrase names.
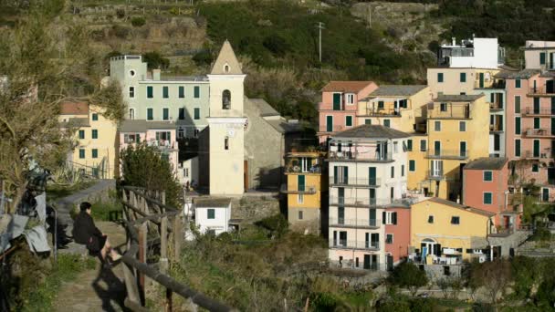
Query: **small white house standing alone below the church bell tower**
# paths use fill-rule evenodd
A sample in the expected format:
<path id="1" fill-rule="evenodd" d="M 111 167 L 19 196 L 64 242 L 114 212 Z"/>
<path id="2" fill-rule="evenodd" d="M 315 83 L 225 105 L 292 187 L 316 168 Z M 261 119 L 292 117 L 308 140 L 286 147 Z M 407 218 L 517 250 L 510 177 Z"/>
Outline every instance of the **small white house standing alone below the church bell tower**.
<path id="1" fill-rule="evenodd" d="M 216 235 L 229 231 L 231 218 L 231 199 L 196 198 L 194 206 L 194 224 L 200 233 L 213 232 Z"/>

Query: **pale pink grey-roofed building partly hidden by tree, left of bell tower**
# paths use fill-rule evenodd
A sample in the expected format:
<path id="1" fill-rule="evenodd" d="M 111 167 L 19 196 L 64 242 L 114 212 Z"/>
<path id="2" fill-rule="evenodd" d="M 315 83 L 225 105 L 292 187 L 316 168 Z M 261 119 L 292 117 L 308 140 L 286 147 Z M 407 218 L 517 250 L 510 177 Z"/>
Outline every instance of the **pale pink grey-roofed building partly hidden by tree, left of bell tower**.
<path id="1" fill-rule="evenodd" d="M 173 121 L 123 120 L 120 125 L 120 151 L 130 144 L 146 142 L 156 147 L 162 159 L 170 161 L 177 174 L 179 146 Z"/>

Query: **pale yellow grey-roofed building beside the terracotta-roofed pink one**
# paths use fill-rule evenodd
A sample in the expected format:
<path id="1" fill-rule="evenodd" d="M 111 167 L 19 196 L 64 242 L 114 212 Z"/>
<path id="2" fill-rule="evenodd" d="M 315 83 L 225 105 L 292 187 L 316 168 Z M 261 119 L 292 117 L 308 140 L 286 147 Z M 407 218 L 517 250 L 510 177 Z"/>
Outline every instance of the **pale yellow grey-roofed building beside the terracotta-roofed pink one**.
<path id="1" fill-rule="evenodd" d="M 413 132 L 423 122 L 423 108 L 432 100 L 424 85 L 380 86 L 368 97 L 359 100 L 357 124 L 382 125 L 404 132 Z"/>

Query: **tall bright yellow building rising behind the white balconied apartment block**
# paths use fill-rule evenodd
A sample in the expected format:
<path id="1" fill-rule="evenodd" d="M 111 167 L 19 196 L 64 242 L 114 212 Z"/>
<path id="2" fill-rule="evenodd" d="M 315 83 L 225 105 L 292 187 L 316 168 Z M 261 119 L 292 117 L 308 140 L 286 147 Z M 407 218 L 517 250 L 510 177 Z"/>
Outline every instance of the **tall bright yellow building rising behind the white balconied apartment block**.
<path id="1" fill-rule="evenodd" d="M 489 106 L 484 95 L 440 95 L 409 142 L 409 189 L 456 201 L 468 161 L 489 156 Z M 416 140 L 416 141 L 414 141 Z M 423 179 L 424 178 L 424 179 Z"/>

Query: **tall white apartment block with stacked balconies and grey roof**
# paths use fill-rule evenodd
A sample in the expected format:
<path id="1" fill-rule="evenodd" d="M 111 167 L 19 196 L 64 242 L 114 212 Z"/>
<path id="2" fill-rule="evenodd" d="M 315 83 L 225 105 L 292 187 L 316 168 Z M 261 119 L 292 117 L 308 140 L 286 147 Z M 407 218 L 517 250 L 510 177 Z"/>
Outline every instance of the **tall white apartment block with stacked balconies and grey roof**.
<path id="1" fill-rule="evenodd" d="M 403 204 L 408 135 L 361 125 L 330 140 L 329 258 L 341 267 L 385 270 L 386 207 Z"/>

